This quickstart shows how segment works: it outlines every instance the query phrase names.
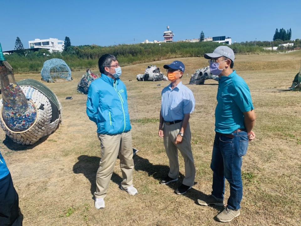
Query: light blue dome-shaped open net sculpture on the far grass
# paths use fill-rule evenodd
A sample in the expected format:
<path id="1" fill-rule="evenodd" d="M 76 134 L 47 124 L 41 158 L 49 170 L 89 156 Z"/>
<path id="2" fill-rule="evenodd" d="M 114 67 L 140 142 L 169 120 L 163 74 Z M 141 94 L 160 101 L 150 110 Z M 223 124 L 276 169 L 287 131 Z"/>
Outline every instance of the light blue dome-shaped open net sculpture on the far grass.
<path id="1" fill-rule="evenodd" d="M 57 79 L 72 80 L 70 67 L 65 61 L 57 58 L 44 62 L 41 76 L 42 80 L 46 82 L 55 82 Z"/>

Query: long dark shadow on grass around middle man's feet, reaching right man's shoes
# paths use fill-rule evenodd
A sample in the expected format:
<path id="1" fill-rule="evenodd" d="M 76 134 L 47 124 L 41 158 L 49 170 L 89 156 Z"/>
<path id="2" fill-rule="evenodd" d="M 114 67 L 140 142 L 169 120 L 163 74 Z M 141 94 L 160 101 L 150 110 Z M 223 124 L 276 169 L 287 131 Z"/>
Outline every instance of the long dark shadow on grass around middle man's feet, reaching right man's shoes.
<path id="1" fill-rule="evenodd" d="M 136 155 L 133 159 L 134 159 L 134 163 L 135 163 L 135 170 L 144 171 L 144 172 L 148 173 L 149 176 L 152 176 L 154 179 L 158 180 L 158 186 L 166 186 L 166 185 L 159 184 L 159 181 L 162 178 L 166 177 L 166 175 L 168 175 L 168 172 L 169 172 L 168 166 L 154 165 L 154 164 L 150 163 L 150 161 L 148 159 L 144 159 L 144 158 L 140 157 L 139 155 Z M 175 183 L 170 183 L 167 186 L 169 186 L 171 189 L 175 190 L 175 189 L 177 189 L 178 186 L 180 186 L 182 184 L 183 179 L 184 179 L 184 175 L 180 173 L 179 180 Z M 135 178 L 134 178 L 134 180 L 135 180 Z M 194 184 L 197 184 L 197 183 L 194 182 Z M 138 188 L 138 190 L 139 190 L 139 188 Z M 198 198 L 205 198 L 205 197 L 208 197 L 209 195 L 206 195 L 202 191 L 198 191 L 194 188 L 191 188 L 189 191 L 187 191 L 186 194 L 183 194 L 183 196 L 190 198 L 191 200 L 193 200 L 193 202 L 198 204 L 197 203 Z M 224 207 L 218 207 L 218 206 L 214 206 L 214 205 L 210 206 L 210 207 L 213 207 L 214 209 L 218 209 L 220 211 L 224 209 Z"/>

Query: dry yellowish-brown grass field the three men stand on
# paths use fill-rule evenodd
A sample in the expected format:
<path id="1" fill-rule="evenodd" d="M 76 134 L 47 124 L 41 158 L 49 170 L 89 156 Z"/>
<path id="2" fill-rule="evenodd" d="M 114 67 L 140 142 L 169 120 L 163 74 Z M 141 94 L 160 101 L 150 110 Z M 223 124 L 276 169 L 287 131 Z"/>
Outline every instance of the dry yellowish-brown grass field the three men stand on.
<path id="1" fill-rule="evenodd" d="M 238 55 L 235 69 L 248 83 L 255 105 L 256 139 L 244 157 L 244 197 L 241 215 L 225 225 L 301 225 L 301 93 L 280 92 L 292 84 L 299 71 L 301 51 L 270 55 Z M 183 83 L 196 69 L 207 66 L 204 58 L 181 58 L 186 66 Z M 68 83 L 46 83 L 63 106 L 63 124 L 33 147 L 11 142 L 0 133 L 1 152 L 19 194 L 24 226 L 35 225 L 222 225 L 214 220 L 222 209 L 201 207 L 197 198 L 211 192 L 211 152 L 217 82 L 188 85 L 196 99 L 190 119 L 192 148 L 197 169 L 195 186 L 176 195 L 178 184 L 165 186 L 159 179 L 168 173 L 163 140 L 157 135 L 161 90 L 169 82 L 138 82 L 135 75 L 145 67 L 173 60 L 123 67 L 121 79 L 128 89 L 137 196 L 119 189 L 121 171 L 117 160 L 105 199 L 96 210 L 92 193 L 100 160 L 96 125 L 86 115 L 87 96 L 76 91 L 84 72 L 73 73 Z M 94 73 L 99 73 L 93 71 Z M 164 72 L 165 73 L 165 72 Z M 166 74 L 166 73 L 165 73 Z M 39 74 L 16 75 L 17 80 Z M 160 85 L 160 86 L 159 86 Z M 72 96 L 72 100 L 65 100 Z M 184 163 L 179 154 L 180 172 Z M 183 175 L 181 175 L 180 182 Z M 180 183 L 179 182 L 179 183 Z M 226 199 L 229 184 L 226 184 Z"/>

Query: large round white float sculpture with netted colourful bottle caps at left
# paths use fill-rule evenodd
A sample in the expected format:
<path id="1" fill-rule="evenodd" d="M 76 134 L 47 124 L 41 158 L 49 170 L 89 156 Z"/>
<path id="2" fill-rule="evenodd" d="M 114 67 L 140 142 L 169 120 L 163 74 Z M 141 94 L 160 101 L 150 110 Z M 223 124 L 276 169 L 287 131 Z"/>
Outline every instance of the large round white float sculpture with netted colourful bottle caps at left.
<path id="1" fill-rule="evenodd" d="M 48 87 L 36 80 L 16 83 L 1 44 L 0 79 L 0 126 L 7 136 L 18 144 L 29 145 L 55 131 L 62 120 L 61 103 Z"/>

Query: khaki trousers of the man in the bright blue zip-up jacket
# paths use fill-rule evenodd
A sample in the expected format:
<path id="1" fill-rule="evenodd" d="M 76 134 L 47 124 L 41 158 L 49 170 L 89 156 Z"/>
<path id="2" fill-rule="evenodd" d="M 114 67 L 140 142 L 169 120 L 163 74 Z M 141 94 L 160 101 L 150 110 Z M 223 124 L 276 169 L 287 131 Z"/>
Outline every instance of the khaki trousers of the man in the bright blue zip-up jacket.
<path id="1" fill-rule="evenodd" d="M 127 188 L 133 184 L 133 148 L 131 132 L 117 135 L 97 134 L 101 146 L 101 159 L 96 173 L 95 198 L 104 198 L 113 174 L 114 165 L 119 156 L 123 181 L 121 186 Z"/>

